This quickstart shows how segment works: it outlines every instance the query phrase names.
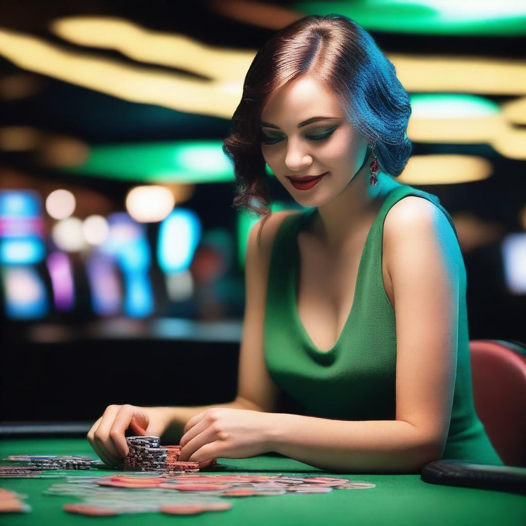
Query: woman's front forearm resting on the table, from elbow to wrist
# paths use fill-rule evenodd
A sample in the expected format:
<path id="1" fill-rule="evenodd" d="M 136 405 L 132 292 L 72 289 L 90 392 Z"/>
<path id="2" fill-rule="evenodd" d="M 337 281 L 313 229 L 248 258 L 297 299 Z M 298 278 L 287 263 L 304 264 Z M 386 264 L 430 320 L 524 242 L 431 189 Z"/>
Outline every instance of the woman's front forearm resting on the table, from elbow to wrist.
<path id="1" fill-rule="evenodd" d="M 440 452 L 400 420 L 330 420 L 277 413 L 270 430 L 272 451 L 326 471 L 418 472 Z"/>

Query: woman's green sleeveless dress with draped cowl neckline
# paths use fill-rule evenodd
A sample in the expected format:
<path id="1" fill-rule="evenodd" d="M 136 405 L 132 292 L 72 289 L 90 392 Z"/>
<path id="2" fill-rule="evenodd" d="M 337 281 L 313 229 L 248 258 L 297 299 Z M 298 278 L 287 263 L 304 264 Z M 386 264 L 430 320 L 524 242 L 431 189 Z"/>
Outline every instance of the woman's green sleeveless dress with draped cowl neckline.
<path id="1" fill-rule="evenodd" d="M 383 197 L 358 267 L 355 298 L 343 330 L 329 351 L 310 339 L 297 311 L 297 235 L 317 208 L 287 216 L 272 247 L 265 313 L 264 353 L 279 388 L 278 410 L 337 420 L 396 419 L 395 311 L 383 286 L 382 233 L 389 209 L 407 196 L 428 199 L 453 220 L 436 195 L 402 185 Z M 473 404 L 466 306 L 466 268 L 459 261 L 460 305 L 457 374 L 443 459 L 502 466 Z"/>

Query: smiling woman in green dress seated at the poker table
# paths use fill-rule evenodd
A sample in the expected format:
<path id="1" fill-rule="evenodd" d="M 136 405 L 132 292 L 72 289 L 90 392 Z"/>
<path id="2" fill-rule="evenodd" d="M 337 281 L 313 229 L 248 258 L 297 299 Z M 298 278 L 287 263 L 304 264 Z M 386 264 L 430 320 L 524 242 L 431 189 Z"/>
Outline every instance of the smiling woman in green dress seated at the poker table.
<path id="1" fill-rule="evenodd" d="M 180 460 L 203 467 L 269 451 L 335 472 L 502 464 L 474 411 L 453 221 L 396 181 L 410 114 L 395 68 L 345 16 L 307 16 L 259 50 L 224 143 L 235 205 L 264 215 L 247 246 L 238 396 L 109 406 L 88 433 L 104 461 L 122 460 L 129 427 L 180 439 Z M 265 164 L 305 210 L 270 214 Z"/>

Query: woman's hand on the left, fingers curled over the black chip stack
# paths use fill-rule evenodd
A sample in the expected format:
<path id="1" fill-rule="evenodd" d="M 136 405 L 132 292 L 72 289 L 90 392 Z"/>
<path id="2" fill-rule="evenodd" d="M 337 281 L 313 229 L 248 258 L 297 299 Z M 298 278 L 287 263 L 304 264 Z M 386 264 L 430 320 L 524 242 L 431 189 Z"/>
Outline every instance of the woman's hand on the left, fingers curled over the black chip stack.
<path id="1" fill-rule="evenodd" d="M 166 428 L 162 408 L 108 406 L 92 426 L 87 439 L 95 453 L 108 466 L 118 466 L 128 454 L 124 432 L 129 428 L 137 436 L 160 437 Z"/>

